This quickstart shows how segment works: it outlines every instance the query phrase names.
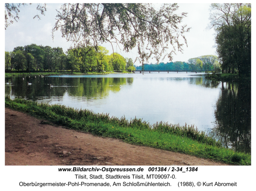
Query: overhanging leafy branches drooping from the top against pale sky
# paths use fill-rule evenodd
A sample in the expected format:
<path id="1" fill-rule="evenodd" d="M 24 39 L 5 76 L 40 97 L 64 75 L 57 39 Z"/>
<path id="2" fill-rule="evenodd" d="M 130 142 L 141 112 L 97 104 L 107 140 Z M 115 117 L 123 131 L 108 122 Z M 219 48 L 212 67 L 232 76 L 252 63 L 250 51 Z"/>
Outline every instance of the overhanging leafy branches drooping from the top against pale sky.
<path id="1" fill-rule="evenodd" d="M 180 25 L 186 13 L 175 14 L 176 3 L 163 4 L 156 10 L 149 3 L 73 3 L 58 11 L 53 32 L 73 41 L 74 47 L 94 47 L 102 43 L 118 43 L 124 51 L 137 47 L 141 63 L 151 56 L 157 60 L 182 51 L 186 44 L 186 25 Z M 172 46 L 169 50 L 168 46 Z"/>

